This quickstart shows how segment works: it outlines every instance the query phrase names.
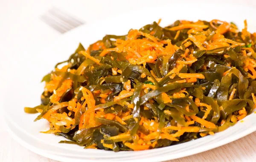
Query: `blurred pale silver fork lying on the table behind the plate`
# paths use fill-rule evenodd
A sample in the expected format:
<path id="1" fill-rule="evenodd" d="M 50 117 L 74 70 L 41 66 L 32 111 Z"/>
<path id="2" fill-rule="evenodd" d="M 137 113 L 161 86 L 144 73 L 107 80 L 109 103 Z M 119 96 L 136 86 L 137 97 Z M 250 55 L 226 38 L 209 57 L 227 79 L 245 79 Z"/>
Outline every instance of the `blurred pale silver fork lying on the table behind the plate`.
<path id="1" fill-rule="evenodd" d="M 46 14 L 40 16 L 40 19 L 60 33 L 65 33 L 85 23 L 56 7 L 50 8 Z"/>

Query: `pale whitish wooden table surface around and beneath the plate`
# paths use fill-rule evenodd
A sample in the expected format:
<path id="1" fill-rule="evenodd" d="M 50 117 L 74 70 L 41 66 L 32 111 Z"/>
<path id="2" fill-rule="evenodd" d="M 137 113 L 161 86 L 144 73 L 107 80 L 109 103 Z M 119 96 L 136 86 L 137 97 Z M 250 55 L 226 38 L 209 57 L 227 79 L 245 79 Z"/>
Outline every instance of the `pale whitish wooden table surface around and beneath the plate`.
<path id="1" fill-rule="evenodd" d="M 157 2 L 159 2 L 158 0 Z M 198 0 L 194 0 L 195 3 Z M 255 0 L 217 0 L 222 3 L 250 5 L 256 8 Z M 224 1 L 224 2 L 223 2 Z M 216 0 L 215 0 L 216 2 Z M 90 23 L 104 17 L 104 13 L 115 15 L 119 12 L 151 6 L 155 1 L 64 1 L 64 0 L 0 0 L 0 60 L 9 51 L 28 53 L 42 47 L 61 34 L 49 28 L 38 16 L 51 6 L 57 6 Z M 204 2 L 212 3 L 212 2 Z M 111 5 L 109 5 L 111 4 Z M 122 7 L 118 7 L 122 6 Z M 126 6 L 125 8 L 123 6 Z M 114 8 L 114 9 L 110 9 Z M 254 13 L 250 13 L 254 14 Z M 1 64 L 0 64 L 1 67 Z M 0 76 L 1 80 L 4 79 Z M 0 87 L 1 88 L 1 87 Z M 1 94 L 4 95 L 4 94 Z M 0 97 L 1 98 L 1 97 Z M 1 103 L 0 103 L 1 107 Z M 56 162 L 35 154 L 13 140 L 3 126 L 0 116 L 0 162 Z M 211 161 L 256 161 L 256 132 L 230 144 L 169 162 L 211 162 Z"/>

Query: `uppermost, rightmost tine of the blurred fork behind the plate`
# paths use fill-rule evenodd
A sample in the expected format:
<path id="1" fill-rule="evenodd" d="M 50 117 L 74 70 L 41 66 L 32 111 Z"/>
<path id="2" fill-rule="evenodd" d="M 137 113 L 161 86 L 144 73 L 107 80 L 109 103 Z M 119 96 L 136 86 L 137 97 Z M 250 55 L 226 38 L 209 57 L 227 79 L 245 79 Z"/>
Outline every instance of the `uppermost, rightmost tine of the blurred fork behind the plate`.
<path id="1" fill-rule="evenodd" d="M 78 20 L 77 18 L 65 13 L 64 11 L 61 11 L 60 9 L 53 7 L 49 10 L 49 12 L 54 15 L 55 17 L 60 18 L 62 21 L 73 25 L 73 27 L 77 27 L 79 25 L 84 24 L 84 22 Z"/>

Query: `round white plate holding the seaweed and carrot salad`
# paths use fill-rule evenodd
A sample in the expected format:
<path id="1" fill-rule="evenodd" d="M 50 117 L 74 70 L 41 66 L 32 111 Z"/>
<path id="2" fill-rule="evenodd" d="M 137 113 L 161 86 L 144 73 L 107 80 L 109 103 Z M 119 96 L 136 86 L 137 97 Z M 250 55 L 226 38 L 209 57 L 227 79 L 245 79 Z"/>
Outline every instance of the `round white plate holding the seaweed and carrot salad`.
<path id="1" fill-rule="evenodd" d="M 216 8 L 218 11 L 216 12 Z M 228 8 L 228 11 L 227 11 Z M 160 25 L 171 24 L 175 20 L 212 20 L 220 19 L 232 21 L 243 27 L 243 20 L 247 19 L 249 31 L 256 29 L 253 8 L 245 6 L 221 6 L 196 4 L 173 4 L 164 6 L 155 5 L 143 11 L 134 11 L 108 20 L 101 20 L 95 24 L 81 26 L 64 34 L 55 40 L 44 50 L 38 49 L 35 53 L 27 53 L 25 56 L 12 58 L 8 63 L 9 73 L 6 74 L 8 82 L 3 97 L 4 114 L 9 123 L 11 134 L 26 148 L 37 154 L 47 156 L 60 161 L 76 160 L 90 161 L 164 161 L 180 158 L 207 151 L 212 148 L 232 142 L 247 134 L 256 131 L 255 114 L 245 117 L 244 123 L 237 123 L 224 132 L 207 136 L 198 140 L 186 142 L 166 148 L 157 148 L 146 151 L 103 151 L 83 149 L 77 145 L 59 144 L 64 137 L 53 134 L 41 134 L 49 128 L 49 123 L 39 120 L 34 123 L 37 115 L 23 112 L 24 106 L 36 106 L 40 103 L 40 95 L 43 84 L 40 84 L 42 76 L 50 72 L 57 62 L 66 60 L 76 49 L 79 42 L 87 47 L 93 42 L 102 39 L 105 34 L 127 34 L 131 28 L 140 28 L 162 18 Z M 6 64 L 7 64 L 6 63 Z M 20 135 L 22 134 L 22 135 Z M 32 142 L 33 141 L 33 142 Z M 65 157 L 65 158 L 64 158 Z"/>

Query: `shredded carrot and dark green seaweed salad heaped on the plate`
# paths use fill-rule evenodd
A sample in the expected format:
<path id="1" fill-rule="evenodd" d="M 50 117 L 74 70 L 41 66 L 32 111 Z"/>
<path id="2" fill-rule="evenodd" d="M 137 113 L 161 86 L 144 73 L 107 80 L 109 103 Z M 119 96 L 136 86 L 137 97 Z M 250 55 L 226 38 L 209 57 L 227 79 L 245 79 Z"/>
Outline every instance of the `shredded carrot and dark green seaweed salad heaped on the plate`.
<path id="1" fill-rule="evenodd" d="M 256 108 L 256 33 L 231 22 L 160 21 L 106 35 L 44 76 L 27 113 L 85 148 L 139 151 L 224 131 Z"/>

